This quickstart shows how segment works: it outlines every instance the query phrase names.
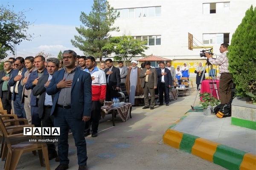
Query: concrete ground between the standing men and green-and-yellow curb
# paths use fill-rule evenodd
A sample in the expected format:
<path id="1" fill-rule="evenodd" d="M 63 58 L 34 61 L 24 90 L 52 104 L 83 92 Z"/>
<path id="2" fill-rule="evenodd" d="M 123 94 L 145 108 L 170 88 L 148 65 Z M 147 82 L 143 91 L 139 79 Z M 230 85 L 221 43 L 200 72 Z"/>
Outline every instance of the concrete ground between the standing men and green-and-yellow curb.
<path id="1" fill-rule="evenodd" d="M 105 116 L 99 124 L 99 136 L 86 137 L 89 170 L 224 169 L 160 142 L 168 127 L 191 108 L 195 94 L 196 92 L 193 91 L 186 97 L 178 97 L 169 106 L 156 106 L 154 110 L 143 110 L 141 106 L 133 107 L 132 119 L 122 122 L 117 116 L 116 126 L 112 126 L 111 115 Z M 196 105 L 198 102 L 199 99 L 196 100 Z M 77 170 L 76 147 L 72 135 L 69 136 L 69 146 L 69 169 Z M 51 169 L 55 169 L 58 164 L 51 160 Z M 3 166 L 4 161 L 0 161 L 0 167 Z M 38 156 L 24 153 L 17 166 L 17 170 L 21 169 L 44 170 L 45 168 L 40 167 Z"/>

